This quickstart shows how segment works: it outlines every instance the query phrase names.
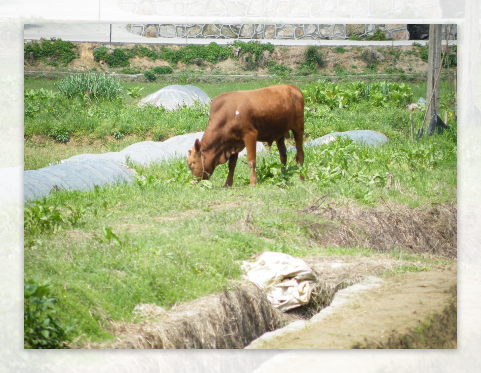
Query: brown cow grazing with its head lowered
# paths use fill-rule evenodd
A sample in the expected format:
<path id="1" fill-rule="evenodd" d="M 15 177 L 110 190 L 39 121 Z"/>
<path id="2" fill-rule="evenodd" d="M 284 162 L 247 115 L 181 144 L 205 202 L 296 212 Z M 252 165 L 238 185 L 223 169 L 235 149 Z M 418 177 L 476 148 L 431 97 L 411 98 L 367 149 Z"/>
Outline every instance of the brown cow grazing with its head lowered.
<path id="1" fill-rule="evenodd" d="M 303 166 L 304 97 L 297 87 L 282 84 L 223 93 L 212 101 L 204 135 L 189 149 L 187 164 L 193 176 L 207 180 L 216 166 L 228 160 L 229 173 L 224 187 L 232 186 L 237 158 L 245 147 L 251 186 L 254 186 L 257 183 L 256 142 L 265 141 L 271 145 L 276 141 L 280 161 L 285 166 L 284 138 L 289 138 L 289 130 L 296 143 L 296 161 Z"/>

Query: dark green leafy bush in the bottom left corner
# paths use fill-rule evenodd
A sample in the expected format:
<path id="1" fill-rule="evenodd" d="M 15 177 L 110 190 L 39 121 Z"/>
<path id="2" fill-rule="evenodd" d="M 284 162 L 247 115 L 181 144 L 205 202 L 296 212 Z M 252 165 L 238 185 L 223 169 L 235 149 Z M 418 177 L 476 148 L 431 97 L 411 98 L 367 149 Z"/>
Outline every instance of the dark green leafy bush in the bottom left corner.
<path id="1" fill-rule="evenodd" d="M 55 316 L 57 298 L 50 280 L 24 282 L 24 348 L 67 348 L 67 334 L 75 326 L 63 327 Z"/>

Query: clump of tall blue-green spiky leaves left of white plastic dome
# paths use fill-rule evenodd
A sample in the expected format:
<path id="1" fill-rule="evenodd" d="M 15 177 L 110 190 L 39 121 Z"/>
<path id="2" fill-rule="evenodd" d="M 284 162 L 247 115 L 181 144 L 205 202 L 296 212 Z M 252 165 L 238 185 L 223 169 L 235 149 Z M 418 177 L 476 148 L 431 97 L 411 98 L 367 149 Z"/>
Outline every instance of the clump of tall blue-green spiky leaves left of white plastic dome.
<path id="1" fill-rule="evenodd" d="M 91 72 L 63 78 L 57 84 L 57 88 L 68 98 L 82 96 L 88 101 L 100 98 L 113 100 L 122 91 L 118 78 Z"/>

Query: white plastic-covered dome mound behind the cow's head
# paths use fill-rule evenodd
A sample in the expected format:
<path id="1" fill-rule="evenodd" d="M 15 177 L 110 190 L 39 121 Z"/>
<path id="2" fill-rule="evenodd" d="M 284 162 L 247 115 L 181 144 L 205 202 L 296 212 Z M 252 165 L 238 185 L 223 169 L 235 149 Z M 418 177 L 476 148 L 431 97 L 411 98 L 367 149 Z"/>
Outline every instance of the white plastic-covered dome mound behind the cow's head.
<path id="1" fill-rule="evenodd" d="M 210 99 L 200 88 L 173 84 L 146 96 L 139 105 L 154 104 L 157 107 L 163 106 L 165 111 L 172 111 L 184 104 L 190 106 L 196 101 L 209 103 Z"/>

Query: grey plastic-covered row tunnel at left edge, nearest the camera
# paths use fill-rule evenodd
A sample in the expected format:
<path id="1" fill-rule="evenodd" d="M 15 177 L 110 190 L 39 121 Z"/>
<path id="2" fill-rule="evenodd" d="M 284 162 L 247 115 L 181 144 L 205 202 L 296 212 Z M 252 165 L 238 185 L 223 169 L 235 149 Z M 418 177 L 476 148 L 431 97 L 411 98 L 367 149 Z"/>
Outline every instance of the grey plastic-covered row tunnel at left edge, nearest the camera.
<path id="1" fill-rule="evenodd" d="M 135 174 L 135 170 L 130 167 L 100 158 L 26 170 L 24 202 L 43 198 L 52 189 L 86 191 L 92 190 L 95 185 L 133 181 Z"/>

